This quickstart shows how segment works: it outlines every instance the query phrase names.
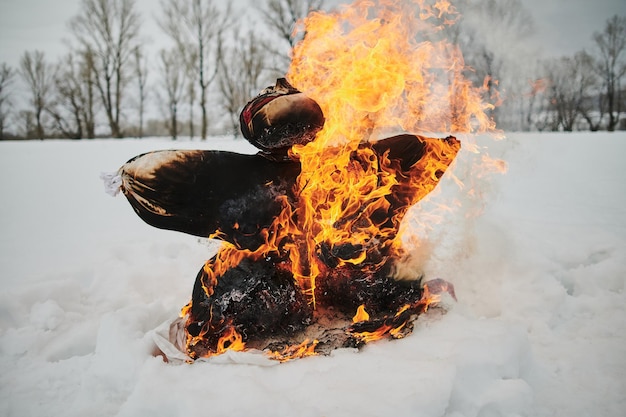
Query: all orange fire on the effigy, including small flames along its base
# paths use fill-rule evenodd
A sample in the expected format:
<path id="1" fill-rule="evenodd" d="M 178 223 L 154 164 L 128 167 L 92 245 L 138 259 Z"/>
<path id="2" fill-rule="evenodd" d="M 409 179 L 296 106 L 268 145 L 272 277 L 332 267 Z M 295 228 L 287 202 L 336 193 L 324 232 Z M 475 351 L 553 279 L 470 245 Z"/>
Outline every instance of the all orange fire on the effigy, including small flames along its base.
<path id="1" fill-rule="evenodd" d="M 363 143 L 398 131 L 441 135 L 495 129 L 487 115 L 493 106 L 483 101 L 486 87 L 465 79 L 461 52 L 443 35 L 457 19 L 454 6 L 445 0 L 431 3 L 357 0 L 336 12 L 313 12 L 304 20 L 306 36 L 293 50 L 287 78 L 320 105 L 324 127 L 314 141 L 291 148 L 290 157 L 301 164 L 296 201 L 283 201 L 283 212 L 264 231 L 265 245 L 256 251 L 224 245 L 207 262 L 202 284 L 208 296 L 223 272 L 243 258 L 276 253 L 288 259 L 294 279 L 315 308 L 318 280 L 332 276 L 332 268 L 321 260 L 322 250 L 352 249 L 349 256 L 338 257 L 335 269 L 377 271 L 388 258 L 403 256 L 398 230 L 407 208 L 435 188 L 460 144 L 454 138 L 426 139 L 426 157 L 400 185 L 398 177 L 405 174 L 398 164 Z M 491 165 L 499 168 L 497 162 Z M 399 192 L 401 186 L 411 192 Z M 401 198 L 396 196 L 409 197 L 398 204 L 405 208 L 392 211 L 394 198 Z M 391 216 L 377 220 L 379 213 Z M 426 287 L 418 304 L 399 308 L 374 331 L 352 335 L 362 342 L 402 337 L 410 316 L 438 302 L 437 297 Z M 353 322 L 369 320 L 361 305 Z M 229 329 L 217 351 L 207 355 L 244 349 L 241 335 Z M 190 337 L 188 348 L 202 337 Z M 269 355 L 281 361 L 308 356 L 315 354 L 317 343 L 305 341 Z"/>

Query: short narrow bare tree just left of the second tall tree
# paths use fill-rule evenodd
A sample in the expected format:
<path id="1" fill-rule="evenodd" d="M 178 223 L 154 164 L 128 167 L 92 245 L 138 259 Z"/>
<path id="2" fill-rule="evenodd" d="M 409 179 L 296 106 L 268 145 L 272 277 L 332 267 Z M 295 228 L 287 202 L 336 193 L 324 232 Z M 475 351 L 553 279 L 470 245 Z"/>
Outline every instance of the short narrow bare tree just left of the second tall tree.
<path id="1" fill-rule="evenodd" d="M 185 66 L 182 65 L 183 59 L 177 48 L 170 51 L 162 49 L 159 57 L 165 102 L 167 103 L 168 128 L 172 139 L 176 139 L 178 137 L 178 106 L 186 84 Z"/>

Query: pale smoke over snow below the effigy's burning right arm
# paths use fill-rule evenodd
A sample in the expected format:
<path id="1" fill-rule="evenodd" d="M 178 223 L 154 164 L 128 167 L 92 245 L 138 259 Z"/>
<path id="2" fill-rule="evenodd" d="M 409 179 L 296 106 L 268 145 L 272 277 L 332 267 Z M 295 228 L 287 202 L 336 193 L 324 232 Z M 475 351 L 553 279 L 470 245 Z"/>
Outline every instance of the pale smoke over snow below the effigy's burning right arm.
<path id="1" fill-rule="evenodd" d="M 412 207 L 402 224 L 407 256 L 398 263 L 397 279 L 444 278 L 454 283 L 459 266 L 475 256 L 477 227 L 499 194 L 506 169 L 493 135 L 459 137 L 461 151 L 439 185 Z"/>

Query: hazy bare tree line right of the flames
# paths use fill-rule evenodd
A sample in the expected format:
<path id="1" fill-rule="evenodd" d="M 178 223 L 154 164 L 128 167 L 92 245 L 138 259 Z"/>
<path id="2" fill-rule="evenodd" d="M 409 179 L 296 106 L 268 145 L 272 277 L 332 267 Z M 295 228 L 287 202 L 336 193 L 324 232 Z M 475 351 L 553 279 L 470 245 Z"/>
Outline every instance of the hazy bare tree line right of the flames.
<path id="1" fill-rule="evenodd" d="M 508 131 L 626 129 L 626 16 L 593 33 L 573 56 L 538 57 L 525 42 L 534 32 L 520 0 L 461 0 L 461 19 L 447 36 L 459 45 Z"/>

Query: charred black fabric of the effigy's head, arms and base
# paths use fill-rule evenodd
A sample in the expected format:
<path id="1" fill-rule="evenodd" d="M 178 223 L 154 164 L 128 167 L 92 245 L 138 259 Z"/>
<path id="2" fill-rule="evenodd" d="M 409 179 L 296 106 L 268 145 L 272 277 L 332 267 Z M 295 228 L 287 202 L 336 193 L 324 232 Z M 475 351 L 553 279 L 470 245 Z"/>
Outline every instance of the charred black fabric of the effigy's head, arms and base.
<path id="1" fill-rule="evenodd" d="M 286 236 L 271 250 L 264 250 L 264 245 L 268 234 L 276 233 L 279 216 L 287 212 L 290 222 L 298 222 L 301 165 L 289 150 L 314 140 L 324 126 L 324 115 L 314 100 L 279 79 L 245 106 L 240 122 L 244 137 L 260 149 L 255 155 L 155 151 L 131 159 L 118 171 L 122 192 L 146 223 L 227 242 L 227 249 L 207 261 L 197 275 L 191 301 L 178 323 L 179 331 L 184 330 L 184 337 L 178 338 L 183 342 L 177 344 L 181 351 L 196 359 L 239 343 L 246 349 L 274 352 L 281 359 L 295 346 L 307 346 L 309 354 L 359 347 L 375 338 L 400 338 L 410 332 L 412 320 L 431 303 L 429 293 L 447 291 L 454 296 L 445 281 L 424 285 L 420 279 L 394 278 L 398 260 L 378 236 L 368 247 L 316 243 L 320 272 L 313 288 L 302 288 L 289 256 L 302 242 Z M 402 134 L 359 145 L 365 148 L 378 160 L 355 151 L 351 155 L 355 166 L 367 170 L 385 158 L 396 167 L 397 184 L 385 196 L 386 208 L 368 213 L 369 221 L 394 230 L 395 236 L 399 220 L 421 198 L 409 178 L 435 158 L 444 166 L 429 178 L 436 185 L 460 142 L 451 136 Z M 232 258 L 233 253 L 240 255 L 237 262 L 224 267 L 225 257 Z M 359 254 L 363 256 L 358 264 L 343 262 Z"/>

